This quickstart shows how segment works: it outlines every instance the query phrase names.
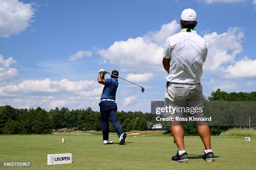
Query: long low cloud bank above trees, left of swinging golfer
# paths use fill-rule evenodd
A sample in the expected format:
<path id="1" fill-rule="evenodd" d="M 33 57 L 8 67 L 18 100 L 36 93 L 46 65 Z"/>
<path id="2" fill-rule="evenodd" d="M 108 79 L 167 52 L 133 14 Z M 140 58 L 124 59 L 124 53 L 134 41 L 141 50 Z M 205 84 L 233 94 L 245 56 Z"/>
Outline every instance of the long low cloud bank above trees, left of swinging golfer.
<path id="1" fill-rule="evenodd" d="M 25 80 L 16 85 L 0 87 L 0 105 L 17 108 L 55 107 L 98 109 L 103 85 L 94 80 L 60 81 Z"/>

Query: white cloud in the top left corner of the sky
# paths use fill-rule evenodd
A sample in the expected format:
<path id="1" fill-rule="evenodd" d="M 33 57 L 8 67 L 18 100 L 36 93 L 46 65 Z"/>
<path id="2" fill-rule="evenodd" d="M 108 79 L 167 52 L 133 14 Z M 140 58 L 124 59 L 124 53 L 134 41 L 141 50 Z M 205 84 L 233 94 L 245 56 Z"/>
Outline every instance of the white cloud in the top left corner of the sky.
<path id="1" fill-rule="evenodd" d="M 18 34 L 33 22 L 31 4 L 18 0 L 0 0 L 0 37 Z"/>

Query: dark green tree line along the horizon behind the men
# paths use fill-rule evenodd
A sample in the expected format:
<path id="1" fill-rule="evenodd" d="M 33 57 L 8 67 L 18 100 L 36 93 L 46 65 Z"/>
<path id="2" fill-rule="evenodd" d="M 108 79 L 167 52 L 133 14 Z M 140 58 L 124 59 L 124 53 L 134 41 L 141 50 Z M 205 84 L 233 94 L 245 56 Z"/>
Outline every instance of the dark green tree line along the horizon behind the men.
<path id="1" fill-rule="evenodd" d="M 204 100 L 208 101 L 255 101 L 256 92 L 224 92 L 213 91 Z M 118 111 L 118 121 L 124 131 L 147 130 L 151 122 L 151 113 Z M 255 121 L 255 120 L 254 120 Z M 49 134 L 54 129 L 78 128 L 83 130 L 102 130 L 100 112 L 92 108 L 69 110 L 66 107 L 56 107 L 46 111 L 41 107 L 36 109 L 17 109 L 10 105 L 0 106 L 0 134 Z M 169 127 L 166 127 L 169 129 Z M 211 127 L 212 135 L 218 135 L 227 127 Z M 115 132 L 110 123 L 110 131 Z M 186 135 L 197 134 L 196 127 L 184 127 Z M 170 131 L 169 131 L 170 132 Z"/>

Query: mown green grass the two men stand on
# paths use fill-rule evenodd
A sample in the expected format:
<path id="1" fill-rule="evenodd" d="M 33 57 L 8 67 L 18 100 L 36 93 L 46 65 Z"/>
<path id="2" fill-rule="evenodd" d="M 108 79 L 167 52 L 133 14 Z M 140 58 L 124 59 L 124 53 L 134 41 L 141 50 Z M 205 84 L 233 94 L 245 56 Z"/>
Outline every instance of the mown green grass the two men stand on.
<path id="1" fill-rule="evenodd" d="M 66 143 L 61 139 L 66 138 Z M 256 140 L 244 137 L 212 137 L 215 163 L 200 159 L 204 147 L 197 136 L 185 137 L 189 163 L 172 163 L 177 148 L 170 135 L 148 135 L 126 138 L 126 145 L 119 145 L 112 133 L 113 145 L 103 145 L 102 135 L 77 133 L 68 135 L 1 135 L 0 162 L 31 161 L 30 170 L 115 170 L 115 169 L 176 169 L 176 170 L 252 170 L 256 167 Z M 72 164 L 47 165 L 47 154 L 72 153 Z M 4 169 L 4 168 L 0 168 Z M 20 168 L 8 168 L 20 169 Z"/>

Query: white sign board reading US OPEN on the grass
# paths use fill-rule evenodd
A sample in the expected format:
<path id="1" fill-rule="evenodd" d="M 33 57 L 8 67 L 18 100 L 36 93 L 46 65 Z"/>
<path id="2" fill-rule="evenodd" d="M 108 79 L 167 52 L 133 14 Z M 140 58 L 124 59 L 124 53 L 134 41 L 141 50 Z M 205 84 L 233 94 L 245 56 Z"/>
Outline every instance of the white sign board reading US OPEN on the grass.
<path id="1" fill-rule="evenodd" d="M 72 163 L 72 153 L 48 154 L 47 165 Z"/>

